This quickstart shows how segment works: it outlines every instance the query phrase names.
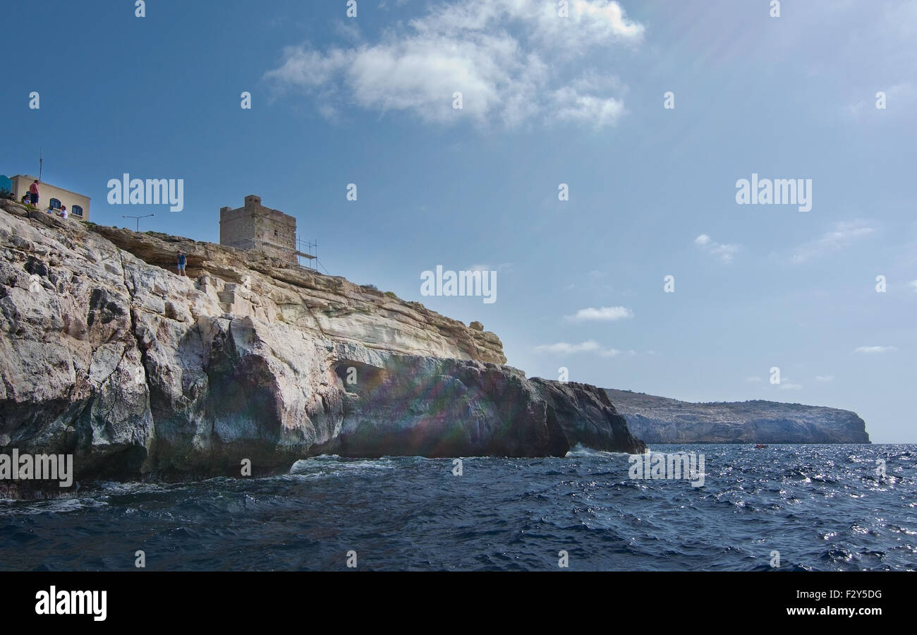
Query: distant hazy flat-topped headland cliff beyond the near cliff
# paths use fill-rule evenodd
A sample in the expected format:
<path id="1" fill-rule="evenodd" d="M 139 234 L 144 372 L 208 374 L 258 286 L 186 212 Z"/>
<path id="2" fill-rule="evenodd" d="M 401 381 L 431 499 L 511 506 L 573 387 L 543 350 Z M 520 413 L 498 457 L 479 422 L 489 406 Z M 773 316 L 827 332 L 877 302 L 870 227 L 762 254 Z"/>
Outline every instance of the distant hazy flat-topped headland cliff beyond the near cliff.
<path id="1" fill-rule="evenodd" d="M 759 399 L 692 404 L 627 390 L 605 393 L 646 443 L 868 443 L 849 410 Z"/>

